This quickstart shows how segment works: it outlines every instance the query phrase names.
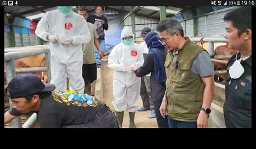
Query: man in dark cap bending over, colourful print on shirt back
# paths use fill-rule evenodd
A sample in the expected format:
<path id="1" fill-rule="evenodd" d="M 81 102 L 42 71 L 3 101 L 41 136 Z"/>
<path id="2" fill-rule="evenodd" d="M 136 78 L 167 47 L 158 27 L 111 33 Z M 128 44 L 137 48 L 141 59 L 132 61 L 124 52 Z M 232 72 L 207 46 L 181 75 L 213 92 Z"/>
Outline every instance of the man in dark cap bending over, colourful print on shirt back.
<path id="1" fill-rule="evenodd" d="M 53 91 L 54 90 L 54 91 Z M 6 87 L 12 108 L 4 124 L 22 114 L 37 113 L 40 128 L 118 128 L 115 112 L 93 96 L 74 90 L 55 90 L 36 75 L 20 75 Z"/>

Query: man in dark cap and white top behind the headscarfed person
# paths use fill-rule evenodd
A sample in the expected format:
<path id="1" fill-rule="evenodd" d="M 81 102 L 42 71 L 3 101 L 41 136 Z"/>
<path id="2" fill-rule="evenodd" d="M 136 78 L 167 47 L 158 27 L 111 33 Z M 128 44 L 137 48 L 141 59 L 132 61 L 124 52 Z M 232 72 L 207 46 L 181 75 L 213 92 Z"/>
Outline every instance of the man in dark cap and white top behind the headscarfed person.
<path id="1" fill-rule="evenodd" d="M 148 32 L 150 32 L 151 29 L 148 27 L 145 27 L 144 29 L 141 30 L 141 38 L 143 38 L 143 42 L 140 44 L 140 49 L 143 53 L 143 57 L 145 60 L 145 57 L 148 53 L 148 48 L 147 44 L 145 43 L 145 36 L 147 35 Z M 138 109 L 138 111 L 147 111 L 147 110 L 152 110 L 152 112 L 148 115 L 148 118 L 155 118 L 156 113 L 154 112 L 154 105 L 151 100 L 150 96 L 150 74 L 146 76 L 141 77 L 141 86 L 140 86 L 140 97 L 142 99 L 143 106 Z"/>

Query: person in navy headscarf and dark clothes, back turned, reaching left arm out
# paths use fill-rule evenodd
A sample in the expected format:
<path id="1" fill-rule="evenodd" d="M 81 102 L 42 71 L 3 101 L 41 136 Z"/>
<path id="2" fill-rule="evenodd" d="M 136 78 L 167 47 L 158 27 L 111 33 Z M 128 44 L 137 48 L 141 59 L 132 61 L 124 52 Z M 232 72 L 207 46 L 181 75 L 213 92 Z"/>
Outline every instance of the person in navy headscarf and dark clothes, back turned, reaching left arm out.
<path id="1" fill-rule="evenodd" d="M 166 75 L 164 62 L 167 51 L 161 44 L 158 34 L 154 31 L 148 32 L 145 42 L 150 51 L 147 54 L 143 66 L 133 71 L 138 77 L 151 73 L 151 97 L 156 113 L 157 125 L 159 128 L 168 128 L 168 118 L 163 118 L 159 111 L 165 92 Z"/>

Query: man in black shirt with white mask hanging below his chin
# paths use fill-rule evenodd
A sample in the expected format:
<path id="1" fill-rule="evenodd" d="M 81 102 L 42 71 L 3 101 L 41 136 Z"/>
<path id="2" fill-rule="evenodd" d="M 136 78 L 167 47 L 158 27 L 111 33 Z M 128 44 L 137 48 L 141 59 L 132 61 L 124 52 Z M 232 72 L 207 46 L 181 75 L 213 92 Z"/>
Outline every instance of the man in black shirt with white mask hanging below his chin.
<path id="1" fill-rule="evenodd" d="M 252 128 L 252 7 L 228 12 L 225 38 L 237 52 L 228 61 L 224 117 L 227 128 Z"/>

